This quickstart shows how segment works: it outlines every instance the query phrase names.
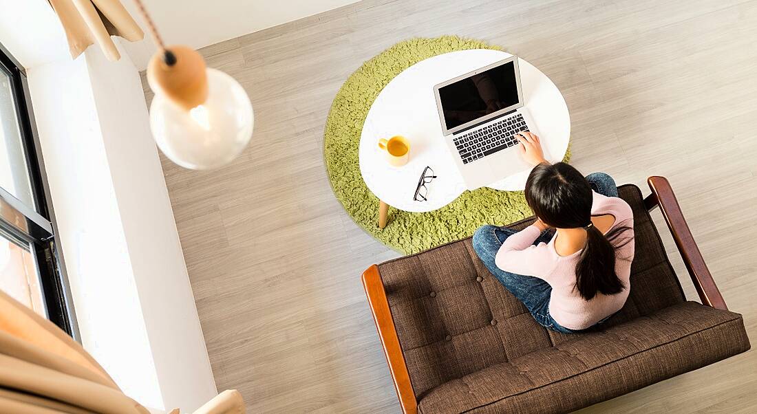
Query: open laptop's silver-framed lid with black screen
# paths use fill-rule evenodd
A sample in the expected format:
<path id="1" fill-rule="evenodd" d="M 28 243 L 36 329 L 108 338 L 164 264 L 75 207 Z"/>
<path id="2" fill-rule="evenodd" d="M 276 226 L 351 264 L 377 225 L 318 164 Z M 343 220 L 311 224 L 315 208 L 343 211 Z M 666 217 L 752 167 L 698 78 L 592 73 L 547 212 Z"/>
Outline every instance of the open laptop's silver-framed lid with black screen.
<path id="1" fill-rule="evenodd" d="M 444 135 L 523 106 L 518 57 L 511 56 L 434 86 Z"/>

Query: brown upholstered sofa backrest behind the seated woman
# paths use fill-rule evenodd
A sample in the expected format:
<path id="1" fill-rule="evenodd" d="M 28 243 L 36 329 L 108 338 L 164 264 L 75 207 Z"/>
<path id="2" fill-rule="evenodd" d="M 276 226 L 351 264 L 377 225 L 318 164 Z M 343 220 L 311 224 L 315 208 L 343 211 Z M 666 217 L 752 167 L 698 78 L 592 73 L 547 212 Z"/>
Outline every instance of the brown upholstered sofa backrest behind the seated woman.
<path id="1" fill-rule="evenodd" d="M 419 411 L 566 412 L 747 349 L 739 314 L 678 303 L 448 381 Z"/>

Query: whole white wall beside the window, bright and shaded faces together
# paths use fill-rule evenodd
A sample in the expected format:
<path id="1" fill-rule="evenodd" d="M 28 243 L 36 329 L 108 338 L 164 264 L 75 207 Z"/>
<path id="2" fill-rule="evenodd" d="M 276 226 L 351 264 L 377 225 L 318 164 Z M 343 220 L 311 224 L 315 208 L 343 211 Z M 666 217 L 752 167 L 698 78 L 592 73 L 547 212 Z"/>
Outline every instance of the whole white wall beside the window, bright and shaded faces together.
<path id="1" fill-rule="evenodd" d="M 89 48 L 27 70 L 85 349 L 157 409 L 217 394 L 139 73 Z"/>

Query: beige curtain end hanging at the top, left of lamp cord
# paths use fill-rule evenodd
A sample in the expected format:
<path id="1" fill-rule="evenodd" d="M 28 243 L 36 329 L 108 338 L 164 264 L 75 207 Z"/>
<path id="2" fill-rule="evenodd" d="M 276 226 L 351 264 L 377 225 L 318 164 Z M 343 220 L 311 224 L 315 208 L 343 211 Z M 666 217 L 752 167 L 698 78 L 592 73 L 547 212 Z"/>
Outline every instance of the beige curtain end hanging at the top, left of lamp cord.
<path id="1" fill-rule="evenodd" d="M 48 3 L 61 20 L 73 58 L 97 43 L 108 60 L 117 61 L 121 55 L 111 36 L 129 42 L 145 37 L 119 0 L 48 0 Z"/>

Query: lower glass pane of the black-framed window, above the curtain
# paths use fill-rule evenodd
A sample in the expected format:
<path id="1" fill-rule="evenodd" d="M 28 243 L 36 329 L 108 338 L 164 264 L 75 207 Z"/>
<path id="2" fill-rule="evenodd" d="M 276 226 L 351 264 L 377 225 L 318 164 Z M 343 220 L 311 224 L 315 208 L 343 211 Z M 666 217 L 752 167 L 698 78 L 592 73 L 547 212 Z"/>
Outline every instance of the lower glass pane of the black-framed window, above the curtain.
<path id="1" fill-rule="evenodd" d="M 32 253 L 0 235 L 0 289 L 47 318 Z"/>

